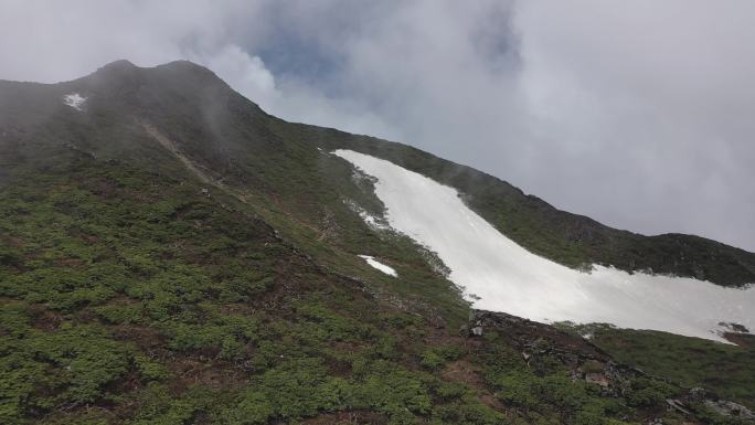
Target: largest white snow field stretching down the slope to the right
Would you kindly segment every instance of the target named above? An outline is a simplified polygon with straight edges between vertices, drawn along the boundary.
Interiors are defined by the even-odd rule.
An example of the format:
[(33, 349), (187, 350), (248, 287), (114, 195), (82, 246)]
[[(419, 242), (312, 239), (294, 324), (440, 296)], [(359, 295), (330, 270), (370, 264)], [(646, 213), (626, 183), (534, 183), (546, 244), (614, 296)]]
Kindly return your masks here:
[(603, 266), (589, 273), (571, 269), (517, 245), (469, 210), (453, 188), (363, 153), (333, 153), (378, 179), (375, 194), (385, 204), (389, 224), (436, 252), (475, 308), (722, 342), (720, 322), (755, 328), (755, 287), (725, 288)]

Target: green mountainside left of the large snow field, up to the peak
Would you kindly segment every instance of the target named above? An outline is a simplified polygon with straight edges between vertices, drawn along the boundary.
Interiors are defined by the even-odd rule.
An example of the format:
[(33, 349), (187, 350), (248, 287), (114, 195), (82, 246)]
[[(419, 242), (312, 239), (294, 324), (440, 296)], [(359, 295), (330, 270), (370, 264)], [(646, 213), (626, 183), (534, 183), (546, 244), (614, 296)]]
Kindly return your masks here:
[[(15, 93), (0, 96), (0, 422), (679, 419), (658, 410), (672, 385), (609, 395), (549, 350), (532, 370), (507, 336), (457, 337), (466, 305), (430, 254), (344, 204), (382, 208), (317, 151), (325, 130), (174, 73), (2, 86)], [(73, 89), (87, 114), (60, 106)]]

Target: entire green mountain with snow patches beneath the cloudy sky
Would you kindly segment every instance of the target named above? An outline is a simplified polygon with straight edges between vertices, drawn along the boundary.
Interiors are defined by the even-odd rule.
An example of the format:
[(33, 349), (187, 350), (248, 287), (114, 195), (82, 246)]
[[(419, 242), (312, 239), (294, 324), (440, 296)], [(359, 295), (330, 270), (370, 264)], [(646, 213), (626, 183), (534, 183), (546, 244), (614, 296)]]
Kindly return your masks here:
[[(415, 178), (424, 213), (391, 195)], [(437, 224), (458, 212), (511, 264), (429, 237), (464, 237)], [(680, 284), (661, 291), (691, 321), (729, 294), (752, 306), (755, 254), (613, 230), (401, 144), (284, 121), (189, 62), (0, 82), (0, 217), (2, 423), (744, 423), (724, 399), (755, 406), (752, 309), (723, 317), (737, 346), (506, 314), (559, 287), (470, 309), (495, 279), (515, 297), (552, 269), (566, 288)], [(481, 285), (478, 265), (522, 280)]]

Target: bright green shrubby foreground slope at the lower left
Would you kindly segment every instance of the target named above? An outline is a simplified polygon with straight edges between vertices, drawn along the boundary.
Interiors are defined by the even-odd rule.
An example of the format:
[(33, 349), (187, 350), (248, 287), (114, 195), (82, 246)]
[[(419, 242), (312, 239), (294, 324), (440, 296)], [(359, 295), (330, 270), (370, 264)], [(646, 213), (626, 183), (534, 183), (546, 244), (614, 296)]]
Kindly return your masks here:
[(679, 392), (608, 396), (549, 353), (532, 370), (506, 336), (375, 299), (190, 176), (60, 159), (0, 191), (4, 424), (620, 424)]

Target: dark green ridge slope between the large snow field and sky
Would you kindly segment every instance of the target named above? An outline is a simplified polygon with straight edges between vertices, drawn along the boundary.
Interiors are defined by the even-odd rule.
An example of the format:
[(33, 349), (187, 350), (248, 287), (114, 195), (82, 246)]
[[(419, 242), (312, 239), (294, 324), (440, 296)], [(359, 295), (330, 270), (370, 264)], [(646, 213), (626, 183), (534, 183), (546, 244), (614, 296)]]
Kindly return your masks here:
[(323, 130), (318, 140), (330, 150), (350, 149), (389, 160), (451, 187), (464, 202), (498, 231), (528, 251), (579, 268), (588, 264), (627, 272), (694, 277), (723, 286), (755, 278), (755, 255), (700, 236), (645, 236), (605, 226), (589, 217), (556, 210), (543, 200), (492, 176), (401, 144), (348, 138)]

